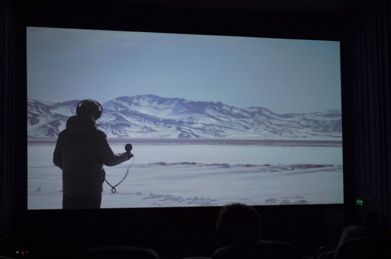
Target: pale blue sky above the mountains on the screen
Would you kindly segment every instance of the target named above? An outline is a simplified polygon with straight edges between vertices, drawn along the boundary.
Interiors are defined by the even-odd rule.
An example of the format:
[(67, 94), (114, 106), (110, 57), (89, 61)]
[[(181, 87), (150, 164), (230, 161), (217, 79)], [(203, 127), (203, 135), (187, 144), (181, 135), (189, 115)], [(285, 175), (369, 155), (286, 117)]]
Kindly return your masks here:
[(27, 96), (341, 109), (339, 42), (27, 27)]

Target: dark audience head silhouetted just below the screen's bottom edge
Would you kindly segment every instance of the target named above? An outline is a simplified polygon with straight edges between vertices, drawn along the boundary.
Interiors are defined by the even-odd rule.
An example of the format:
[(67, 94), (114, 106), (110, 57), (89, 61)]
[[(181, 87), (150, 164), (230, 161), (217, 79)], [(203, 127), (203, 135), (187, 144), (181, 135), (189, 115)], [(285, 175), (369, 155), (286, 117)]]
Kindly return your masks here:
[(217, 220), (218, 246), (234, 245), (259, 240), (260, 215), (244, 204), (224, 206)]

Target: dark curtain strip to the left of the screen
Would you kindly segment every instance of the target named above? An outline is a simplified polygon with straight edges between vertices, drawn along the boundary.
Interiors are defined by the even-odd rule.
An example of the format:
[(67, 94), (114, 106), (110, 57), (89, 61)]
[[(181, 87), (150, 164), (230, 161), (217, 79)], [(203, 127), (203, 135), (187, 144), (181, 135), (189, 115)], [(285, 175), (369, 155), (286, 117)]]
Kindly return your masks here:
[(15, 1), (0, 1), (0, 235), (26, 208), (26, 44)]

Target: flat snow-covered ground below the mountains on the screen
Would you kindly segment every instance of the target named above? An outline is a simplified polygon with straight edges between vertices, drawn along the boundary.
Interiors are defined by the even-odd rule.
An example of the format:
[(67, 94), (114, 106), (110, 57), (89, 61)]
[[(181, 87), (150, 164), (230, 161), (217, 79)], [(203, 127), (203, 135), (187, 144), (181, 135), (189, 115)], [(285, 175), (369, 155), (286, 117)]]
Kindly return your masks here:
[[(114, 152), (126, 143), (112, 142)], [(308, 144), (308, 143), (307, 143)], [(60, 209), (55, 142), (28, 143), (28, 209)], [(104, 183), (102, 208), (343, 203), (342, 146), (133, 145), (133, 166), (116, 193)], [(105, 167), (116, 184), (132, 160)]]

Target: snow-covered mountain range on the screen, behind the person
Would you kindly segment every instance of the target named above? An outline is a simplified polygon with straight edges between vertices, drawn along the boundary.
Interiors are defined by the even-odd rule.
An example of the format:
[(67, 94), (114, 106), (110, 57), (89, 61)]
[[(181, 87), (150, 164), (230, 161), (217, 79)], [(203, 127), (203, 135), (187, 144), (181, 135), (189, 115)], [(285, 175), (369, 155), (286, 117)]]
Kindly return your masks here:
[[(29, 137), (56, 137), (80, 100), (27, 100)], [(341, 111), (277, 114), (156, 95), (121, 96), (102, 104), (97, 121), (108, 137), (341, 140)]]

